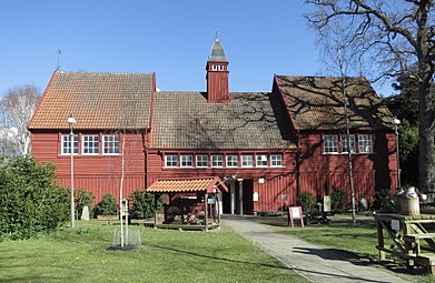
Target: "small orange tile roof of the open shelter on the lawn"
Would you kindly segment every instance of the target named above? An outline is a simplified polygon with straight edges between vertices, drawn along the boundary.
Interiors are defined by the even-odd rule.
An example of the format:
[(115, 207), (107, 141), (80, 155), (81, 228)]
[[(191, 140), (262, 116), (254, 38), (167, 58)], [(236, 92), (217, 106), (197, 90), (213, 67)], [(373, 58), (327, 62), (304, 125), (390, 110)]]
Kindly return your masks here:
[(157, 180), (148, 189), (150, 193), (182, 193), (182, 192), (208, 192), (212, 193), (214, 188), (228, 191), (225, 183), (218, 178), (201, 178), (201, 179), (175, 179), (175, 180)]

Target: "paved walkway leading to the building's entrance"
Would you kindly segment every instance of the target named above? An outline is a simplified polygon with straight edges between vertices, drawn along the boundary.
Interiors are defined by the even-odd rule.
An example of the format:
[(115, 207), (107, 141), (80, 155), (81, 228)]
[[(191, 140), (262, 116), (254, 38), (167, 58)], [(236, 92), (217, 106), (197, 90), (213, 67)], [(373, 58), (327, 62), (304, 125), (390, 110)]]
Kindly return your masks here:
[(344, 252), (275, 232), (249, 218), (225, 215), (223, 224), (230, 226), (312, 282), (408, 282), (380, 269), (366, 266), (367, 263)]

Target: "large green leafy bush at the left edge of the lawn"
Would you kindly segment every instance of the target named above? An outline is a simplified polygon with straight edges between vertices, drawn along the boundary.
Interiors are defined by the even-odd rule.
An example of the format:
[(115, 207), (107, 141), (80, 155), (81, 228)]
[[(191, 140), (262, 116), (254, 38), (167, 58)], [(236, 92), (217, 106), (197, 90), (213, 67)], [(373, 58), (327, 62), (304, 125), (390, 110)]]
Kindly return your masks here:
[(28, 239), (68, 220), (68, 190), (53, 178), (53, 164), (28, 156), (0, 165), (0, 240)]

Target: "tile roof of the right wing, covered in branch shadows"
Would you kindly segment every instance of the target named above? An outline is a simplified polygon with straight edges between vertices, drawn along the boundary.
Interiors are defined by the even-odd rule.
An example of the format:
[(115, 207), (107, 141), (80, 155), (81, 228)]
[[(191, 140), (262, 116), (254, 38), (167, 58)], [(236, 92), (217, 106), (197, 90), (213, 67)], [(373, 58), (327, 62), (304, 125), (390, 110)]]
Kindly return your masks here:
[[(346, 128), (342, 78), (275, 75), (275, 81), (300, 130)], [(392, 127), (392, 113), (365, 78), (346, 78), (350, 128)]]

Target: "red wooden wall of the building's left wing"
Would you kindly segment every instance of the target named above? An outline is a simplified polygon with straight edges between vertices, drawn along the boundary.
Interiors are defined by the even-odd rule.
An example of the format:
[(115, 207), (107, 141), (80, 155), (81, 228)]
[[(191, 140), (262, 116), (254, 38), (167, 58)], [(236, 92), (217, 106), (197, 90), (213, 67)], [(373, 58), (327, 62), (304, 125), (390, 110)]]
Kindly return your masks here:
[[(81, 134), (89, 132), (79, 132)], [(63, 133), (67, 134), (67, 133)], [(92, 132), (96, 134), (96, 132)], [(122, 138), (120, 138), (122, 141)], [(142, 134), (125, 134), (125, 198), (145, 189), (145, 152)], [(121, 149), (121, 143), (119, 145)], [(79, 137), (79, 152), (81, 139)], [(101, 150), (100, 150), (101, 152)], [(38, 161), (56, 164), (56, 176), (65, 188), (70, 186), (70, 155), (61, 154), (61, 133), (32, 133), (32, 155)], [(75, 188), (85, 188), (99, 202), (107, 193), (119, 201), (121, 155), (75, 155)]]

